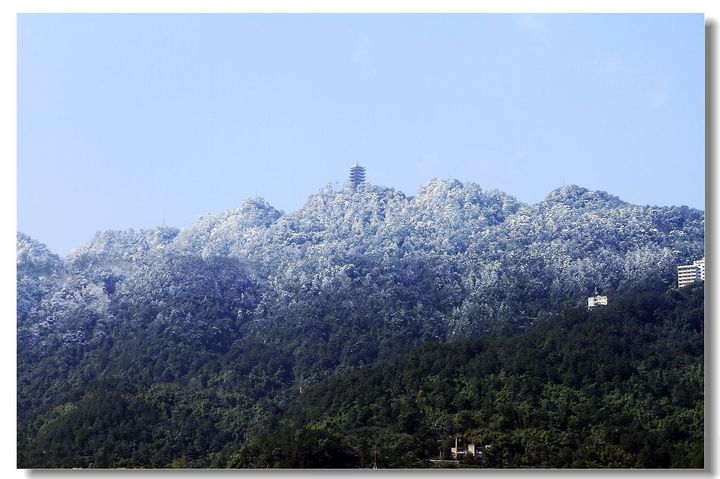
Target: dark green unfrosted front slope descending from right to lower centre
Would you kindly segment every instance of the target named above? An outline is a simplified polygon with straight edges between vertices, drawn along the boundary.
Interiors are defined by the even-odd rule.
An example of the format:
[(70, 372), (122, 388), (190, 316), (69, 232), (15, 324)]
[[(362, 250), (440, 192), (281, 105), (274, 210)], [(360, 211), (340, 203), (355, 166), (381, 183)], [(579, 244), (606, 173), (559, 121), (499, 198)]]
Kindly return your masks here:
[[(305, 391), (231, 467), (702, 468), (703, 288), (420, 347)], [(489, 446), (485, 448), (485, 446)], [(447, 463), (445, 463), (447, 465)]]

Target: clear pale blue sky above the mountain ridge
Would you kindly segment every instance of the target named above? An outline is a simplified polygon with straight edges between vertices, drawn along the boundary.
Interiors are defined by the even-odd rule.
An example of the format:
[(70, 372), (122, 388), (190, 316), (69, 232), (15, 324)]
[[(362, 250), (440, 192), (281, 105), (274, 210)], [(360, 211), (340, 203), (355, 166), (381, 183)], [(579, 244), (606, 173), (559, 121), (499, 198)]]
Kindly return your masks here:
[(704, 209), (702, 15), (20, 15), (18, 229), (187, 226), (347, 178)]

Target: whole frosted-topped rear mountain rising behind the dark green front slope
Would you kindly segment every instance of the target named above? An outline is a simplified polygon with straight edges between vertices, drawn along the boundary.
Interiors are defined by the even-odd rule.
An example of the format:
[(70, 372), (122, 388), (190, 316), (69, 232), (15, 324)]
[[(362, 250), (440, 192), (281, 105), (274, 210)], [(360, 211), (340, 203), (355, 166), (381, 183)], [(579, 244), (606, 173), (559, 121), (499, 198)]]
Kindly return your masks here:
[(703, 243), (687, 207), (577, 186), (527, 205), (441, 180), (414, 197), (328, 187), (288, 214), (248, 200), (182, 229), (101, 231), (65, 258), (19, 233), (18, 463), (246, 465), (248, 439), (319, 381), (425, 343), (535, 334), (596, 288), (665, 291)]

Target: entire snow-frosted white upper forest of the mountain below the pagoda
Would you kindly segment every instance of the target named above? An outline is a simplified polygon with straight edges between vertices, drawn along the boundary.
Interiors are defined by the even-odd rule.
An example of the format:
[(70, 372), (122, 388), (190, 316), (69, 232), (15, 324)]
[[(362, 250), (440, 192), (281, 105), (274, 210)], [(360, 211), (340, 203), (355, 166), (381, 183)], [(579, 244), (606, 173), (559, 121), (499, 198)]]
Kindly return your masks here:
[[(223, 315), (256, 320), (261, 334), (268, 324), (312, 321), (323, 308), (358, 314), (353, 305), (364, 302), (389, 324), (434, 318), (428, 334), (440, 337), (595, 288), (668, 283), (678, 264), (703, 254), (704, 212), (632, 205), (574, 185), (530, 205), (457, 180), (434, 179), (416, 196), (328, 185), (287, 214), (255, 198), (182, 229), (100, 231), (68, 256), (66, 273), (18, 276), (18, 314), (32, 321), (65, 311), (48, 314), (70, 321), (83, 317), (74, 312), (80, 303), (104, 314), (137, 300), (164, 318), (187, 318), (191, 305), (212, 300)], [(19, 234), (21, 263), (61, 264)], [(235, 296), (226, 301), (228, 291)], [(164, 311), (179, 298), (182, 308)]]

